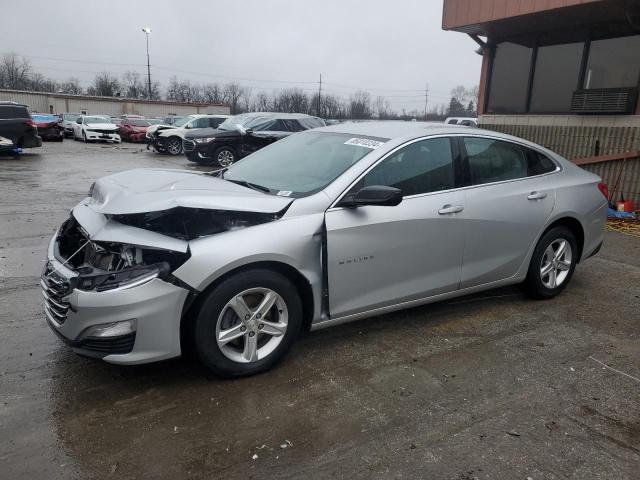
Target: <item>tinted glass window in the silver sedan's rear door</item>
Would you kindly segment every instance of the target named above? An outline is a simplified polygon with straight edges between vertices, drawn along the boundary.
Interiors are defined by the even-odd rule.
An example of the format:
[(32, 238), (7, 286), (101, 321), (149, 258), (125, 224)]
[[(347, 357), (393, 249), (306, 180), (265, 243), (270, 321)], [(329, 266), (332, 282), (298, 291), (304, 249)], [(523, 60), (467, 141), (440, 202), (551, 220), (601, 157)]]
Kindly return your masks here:
[(491, 138), (465, 137), (471, 185), (515, 180), (528, 176), (524, 150), (514, 143)]

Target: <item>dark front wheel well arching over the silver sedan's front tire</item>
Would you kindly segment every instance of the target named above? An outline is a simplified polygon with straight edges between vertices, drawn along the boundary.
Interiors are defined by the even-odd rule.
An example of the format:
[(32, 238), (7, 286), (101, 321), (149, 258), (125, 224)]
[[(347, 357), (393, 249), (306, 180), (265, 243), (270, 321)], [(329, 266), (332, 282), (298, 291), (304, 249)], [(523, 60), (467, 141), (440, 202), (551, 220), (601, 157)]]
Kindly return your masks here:
[(274, 272), (278, 272), (281, 275), (288, 278), (291, 283), (293, 283), (298, 290), (298, 294), (300, 295), (300, 300), (302, 301), (302, 328), (303, 330), (309, 330), (311, 328), (311, 321), (313, 320), (313, 290), (308, 280), (295, 268), (286, 263), (280, 262), (255, 262), (250, 263), (248, 265), (242, 265), (241, 267), (235, 268), (220, 278), (214, 280), (207, 288), (205, 288), (202, 292), (198, 293), (195, 298), (189, 303), (188, 307), (185, 309), (182, 315), (182, 323), (180, 326), (180, 341), (182, 344), (182, 350), (185, 352), (187, 349), (191, 349), (191, 334), (192, 328), (194, 325), (195, 316), (200, 308), (200, 304), (204, 298), (206, 298), (207, 294), (216, 288), (220, 283), (226, 280), (233, 275), (236, 275), (240, 272), (244, 272), (247, 270), (253, 269), (265, 269), (265, 270), (273, 270)]

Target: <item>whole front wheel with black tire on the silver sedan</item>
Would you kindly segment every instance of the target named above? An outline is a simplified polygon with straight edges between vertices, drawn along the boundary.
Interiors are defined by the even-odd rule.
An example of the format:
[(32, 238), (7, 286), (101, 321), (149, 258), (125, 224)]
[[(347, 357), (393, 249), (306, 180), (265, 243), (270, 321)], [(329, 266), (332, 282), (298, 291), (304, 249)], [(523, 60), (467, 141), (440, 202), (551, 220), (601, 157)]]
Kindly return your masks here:
[[(267, 294), (275, 303), (261, 317), (257, 306)], [(234, 303), (232, 308), (238, 298), (243, 303)], [(244, 319), (238, 311), (245, 312)], [(206, 294), (195, 318), (192, 341), (200, 362), (214, 374), (243, 377), (276, 365), (298, 337), (301, 325), (302, 302), (296, 287), (277, 272), (248, 270)], [(233, 334), (233, 340), (220, 339), (225, 331)]]

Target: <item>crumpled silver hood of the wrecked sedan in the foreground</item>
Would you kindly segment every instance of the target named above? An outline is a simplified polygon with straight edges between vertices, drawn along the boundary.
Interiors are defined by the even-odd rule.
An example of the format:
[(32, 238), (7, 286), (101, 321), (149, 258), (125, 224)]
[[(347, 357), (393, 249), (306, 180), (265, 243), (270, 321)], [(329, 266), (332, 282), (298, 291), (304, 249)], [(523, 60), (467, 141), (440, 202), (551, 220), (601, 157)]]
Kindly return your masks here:
[(277, 213), (291, 202), (202, 173), (141, 168), (97, 180), (86, 205), (109, 215), (175, 207)]

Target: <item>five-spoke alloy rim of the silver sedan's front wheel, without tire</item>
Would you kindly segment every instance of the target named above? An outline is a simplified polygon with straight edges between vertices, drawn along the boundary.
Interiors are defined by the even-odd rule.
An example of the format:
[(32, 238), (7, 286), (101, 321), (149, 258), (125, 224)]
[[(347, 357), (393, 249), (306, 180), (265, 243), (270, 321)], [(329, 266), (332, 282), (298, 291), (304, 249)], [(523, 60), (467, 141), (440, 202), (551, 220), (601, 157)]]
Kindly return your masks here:
[(238, 363), (268, 357), (282, 342), (289, 312), (284, 299), (269, 288), (251, 288), (231, 300), (216, 322), (216, 342), (222, 354)]

